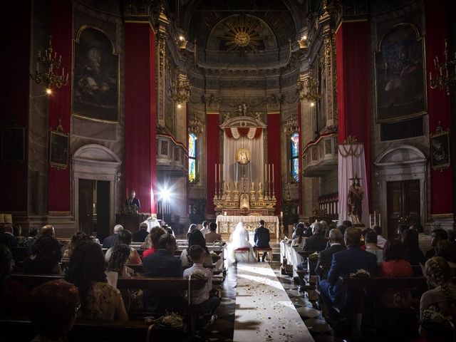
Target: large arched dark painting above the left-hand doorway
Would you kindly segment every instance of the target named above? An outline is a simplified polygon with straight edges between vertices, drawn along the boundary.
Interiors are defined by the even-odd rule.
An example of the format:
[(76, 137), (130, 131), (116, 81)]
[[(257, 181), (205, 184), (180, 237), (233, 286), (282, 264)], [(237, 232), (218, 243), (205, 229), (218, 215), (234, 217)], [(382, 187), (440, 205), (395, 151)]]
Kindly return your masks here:
[(73, 58), (73, 115), (118, 122), (119, 56), (100, 28), (82, 26)]

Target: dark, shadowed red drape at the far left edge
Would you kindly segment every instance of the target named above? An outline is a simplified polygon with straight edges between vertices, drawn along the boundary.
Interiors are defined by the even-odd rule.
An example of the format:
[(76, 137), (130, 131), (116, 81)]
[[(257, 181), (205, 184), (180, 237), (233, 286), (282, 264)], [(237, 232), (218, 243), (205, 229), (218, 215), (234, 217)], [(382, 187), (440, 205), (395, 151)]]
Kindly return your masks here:
[[(28, 92), (30, 90), (30, 82), (32, 82), (28, 75), (31, 1), (4, 1), (0, 18), (2, 32), (4, 32), (1, 46), (3, 51), (1, 55), (2, 66), (0, 68), (0, 103), (2, 112), (0, 126), (6, 128), (17, 125), (25, 128), (25, 160), (22, 162), (0, 163), (0, 187), (1, 192), (4, 194), (0, 197), (0, 212), (26, 212), (28, 192)], [(11, 51), (12, 53), (6, 53), (6, 51)]]

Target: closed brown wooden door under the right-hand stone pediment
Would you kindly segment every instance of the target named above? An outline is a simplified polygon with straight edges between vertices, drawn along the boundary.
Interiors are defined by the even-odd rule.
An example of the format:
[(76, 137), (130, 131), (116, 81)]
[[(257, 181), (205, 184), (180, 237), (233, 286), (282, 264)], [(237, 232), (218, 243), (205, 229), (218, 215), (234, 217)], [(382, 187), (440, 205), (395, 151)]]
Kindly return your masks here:
[(394, 237), (398, 224), (420, 223), (420, 181), (387, 182), (388, 238)]

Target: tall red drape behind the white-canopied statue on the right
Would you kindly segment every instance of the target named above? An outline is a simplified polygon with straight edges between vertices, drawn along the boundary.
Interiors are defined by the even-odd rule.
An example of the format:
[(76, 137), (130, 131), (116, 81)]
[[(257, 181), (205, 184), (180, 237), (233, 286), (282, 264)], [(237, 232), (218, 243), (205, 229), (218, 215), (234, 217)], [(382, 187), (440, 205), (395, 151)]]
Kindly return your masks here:
[(349, 135), (363, 142), (368, 204), (371, 185), (371, 77), (368, 21), (343, 22), (336, 32), (338, 142)]

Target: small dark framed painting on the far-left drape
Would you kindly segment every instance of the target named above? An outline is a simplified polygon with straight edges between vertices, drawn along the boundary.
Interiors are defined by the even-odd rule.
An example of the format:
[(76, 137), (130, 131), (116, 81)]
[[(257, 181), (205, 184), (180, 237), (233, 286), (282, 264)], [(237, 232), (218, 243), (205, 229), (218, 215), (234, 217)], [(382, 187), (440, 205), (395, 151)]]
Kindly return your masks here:
[(1, 130), (1, 160), (21, 162), (25, 160), (25, 128), (4, 127)]

